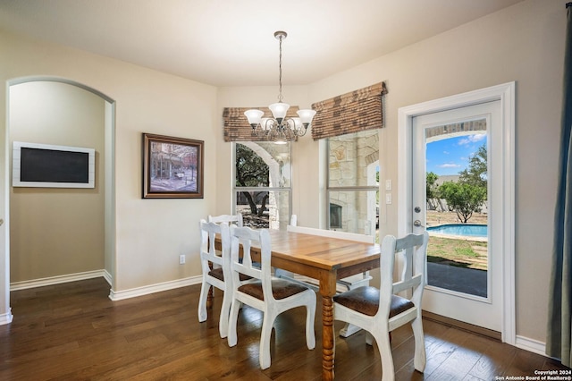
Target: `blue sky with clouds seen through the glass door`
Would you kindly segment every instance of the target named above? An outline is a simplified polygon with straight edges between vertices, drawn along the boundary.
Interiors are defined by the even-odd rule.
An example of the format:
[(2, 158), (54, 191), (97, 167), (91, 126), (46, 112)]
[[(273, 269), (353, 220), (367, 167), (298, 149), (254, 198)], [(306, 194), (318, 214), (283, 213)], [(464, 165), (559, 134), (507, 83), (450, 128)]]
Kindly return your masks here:
[(427, 172), (439, 176), (458, 174), (467, 168), (468, 158), (486, 142), (486, 134), (458, 136), (427, 143)]

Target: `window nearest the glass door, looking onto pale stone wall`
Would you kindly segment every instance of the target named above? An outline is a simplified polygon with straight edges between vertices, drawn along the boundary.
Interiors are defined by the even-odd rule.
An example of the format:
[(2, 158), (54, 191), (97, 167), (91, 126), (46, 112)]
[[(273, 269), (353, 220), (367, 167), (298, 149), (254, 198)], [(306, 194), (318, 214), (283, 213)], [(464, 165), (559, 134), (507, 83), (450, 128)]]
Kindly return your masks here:
[(379, 134), (359, 131), (327, 140), (328, 229), (374, 235), (379, 210)]

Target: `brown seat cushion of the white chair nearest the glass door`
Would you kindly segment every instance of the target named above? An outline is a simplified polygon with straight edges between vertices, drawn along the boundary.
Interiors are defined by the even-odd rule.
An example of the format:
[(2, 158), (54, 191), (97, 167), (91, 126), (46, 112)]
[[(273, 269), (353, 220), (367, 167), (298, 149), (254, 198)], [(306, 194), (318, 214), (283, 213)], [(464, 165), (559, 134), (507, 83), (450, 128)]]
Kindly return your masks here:
[[(364, 315), (373, 317), (379, 309), (379, 290), (372, 286), (357, 287), (354, 290), (335, 295), (333, 301)], [(415, 307), (413, 302), (398, 295), (391, 295), (390, 318)]]

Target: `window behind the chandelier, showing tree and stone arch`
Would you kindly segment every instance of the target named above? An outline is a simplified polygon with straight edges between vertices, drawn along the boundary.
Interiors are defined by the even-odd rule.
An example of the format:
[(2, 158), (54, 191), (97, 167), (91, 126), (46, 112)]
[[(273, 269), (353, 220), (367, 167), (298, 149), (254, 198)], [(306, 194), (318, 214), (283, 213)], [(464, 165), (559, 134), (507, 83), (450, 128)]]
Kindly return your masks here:
[(290, 142), (234, 145), (234, 208), (245, 226), (286, 229), (290, 221)]

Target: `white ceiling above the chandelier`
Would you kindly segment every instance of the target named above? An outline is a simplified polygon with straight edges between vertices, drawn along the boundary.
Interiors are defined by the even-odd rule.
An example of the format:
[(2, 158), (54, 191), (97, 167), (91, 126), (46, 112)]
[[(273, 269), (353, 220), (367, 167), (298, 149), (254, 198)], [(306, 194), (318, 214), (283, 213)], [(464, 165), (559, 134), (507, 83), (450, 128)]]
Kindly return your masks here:
[(0, 0), (0, 30), (214, 86), (305, 85), (522, 0)]

